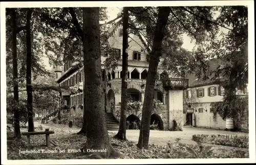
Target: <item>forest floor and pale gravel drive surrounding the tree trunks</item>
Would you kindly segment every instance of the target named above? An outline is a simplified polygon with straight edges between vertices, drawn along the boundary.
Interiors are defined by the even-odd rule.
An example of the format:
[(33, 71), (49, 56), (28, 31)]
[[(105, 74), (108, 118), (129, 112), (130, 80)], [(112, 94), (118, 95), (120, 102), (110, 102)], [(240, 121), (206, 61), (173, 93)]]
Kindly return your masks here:
[[(40, 126), (41, 125), (41, 126)], [(63, 150), (80, 149), (86, 142), (86, 137), (77, 135), (79, 128), (69, 128), (68, 125), (41, 124), (34, 122), (35, 127), (42, 130), (50, 128), (55, 133), (50, 135), (51, 145), (46, 147), (45, 135), (31, 136), (32, 149), (35, 150)], [(22, 129), (22, 132), (27, 131)], [(117, 131), (109, 132), (113, 137)], [(139, 130), (127, 130), (126, 137), (129, 142), (123, 142), (111, 138), (112, 146), (122, 154), (120, 158), (230, 158), (248, 157), (247, 148), (220, 146), (203, 144), (203, 148), (191, 138), (194, 134), (228, 134), (248, 136), (248, 133), (228, 132), (222, 130), (211, 130), (203, 128), (184, 127), (183, 131), (156, 131), (150, 132), (150, 149), (139, 150), (136, 147), (139, 138)], [(179, 143), (176, 139), (180, 138)], [(192, 150), (191, 150), (192, 149)], [(20, 151), (27, 150), (26, 137), (8, 146), (8, 159), (70, 159), (87, 158), (77, 153), (66, 154), (18, 154)], [(212, 150), (212, 151), (211, 151)]]

